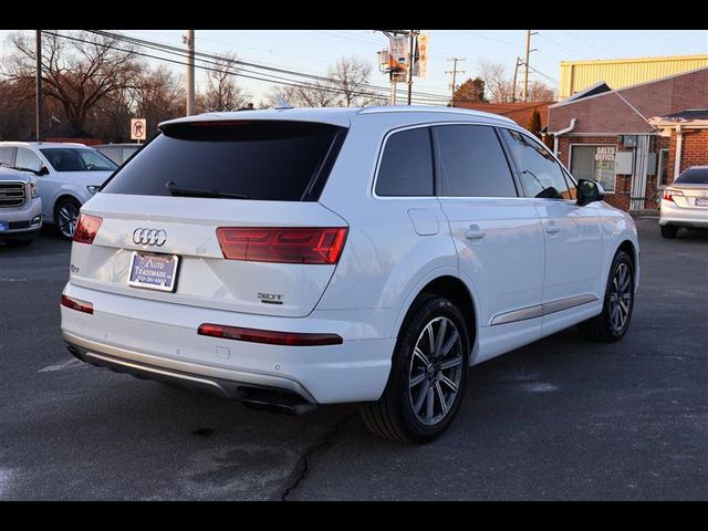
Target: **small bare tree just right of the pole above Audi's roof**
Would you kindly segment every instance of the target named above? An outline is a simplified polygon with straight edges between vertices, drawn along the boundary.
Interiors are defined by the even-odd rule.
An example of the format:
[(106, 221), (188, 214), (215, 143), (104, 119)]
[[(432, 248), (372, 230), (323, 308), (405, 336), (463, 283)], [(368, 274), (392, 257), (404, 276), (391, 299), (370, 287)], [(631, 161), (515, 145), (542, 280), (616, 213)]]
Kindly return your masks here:
[(236, 82), (235, 65), (237, 56), (223, 55), (208, 71), (205, 91), (197, 95), (197, 107), (202, 112), (237, 111), (251, 98)]

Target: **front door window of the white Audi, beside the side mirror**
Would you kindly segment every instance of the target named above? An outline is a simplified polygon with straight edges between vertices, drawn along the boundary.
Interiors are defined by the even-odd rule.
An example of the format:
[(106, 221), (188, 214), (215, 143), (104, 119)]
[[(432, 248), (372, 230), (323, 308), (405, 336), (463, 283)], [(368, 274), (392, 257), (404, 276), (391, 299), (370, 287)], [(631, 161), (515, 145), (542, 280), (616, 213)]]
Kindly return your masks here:
[(517, 131), (502, 129), (527, 197), (571, 199), (561, 166), (540, 143)]

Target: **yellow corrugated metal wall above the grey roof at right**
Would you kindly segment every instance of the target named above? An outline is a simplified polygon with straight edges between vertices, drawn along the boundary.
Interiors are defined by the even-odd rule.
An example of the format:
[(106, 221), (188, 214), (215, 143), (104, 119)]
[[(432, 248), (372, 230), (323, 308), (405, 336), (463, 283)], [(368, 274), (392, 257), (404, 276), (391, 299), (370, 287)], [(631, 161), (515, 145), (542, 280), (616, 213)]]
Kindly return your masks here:
[(559, 101), (604, 81), (611, 88), (623, 88), (708, 66), (706, 55), (562, 61)]

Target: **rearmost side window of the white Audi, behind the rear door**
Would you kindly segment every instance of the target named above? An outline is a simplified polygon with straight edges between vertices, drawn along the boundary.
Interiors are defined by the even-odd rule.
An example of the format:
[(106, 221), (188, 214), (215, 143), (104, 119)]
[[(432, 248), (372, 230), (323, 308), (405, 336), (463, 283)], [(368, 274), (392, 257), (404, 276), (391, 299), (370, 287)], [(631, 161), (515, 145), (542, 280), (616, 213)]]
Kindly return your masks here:
[(427, 127), (402, 131), (388, 137), (378, 168), (376, 195), (433, 195), (433, 154)]

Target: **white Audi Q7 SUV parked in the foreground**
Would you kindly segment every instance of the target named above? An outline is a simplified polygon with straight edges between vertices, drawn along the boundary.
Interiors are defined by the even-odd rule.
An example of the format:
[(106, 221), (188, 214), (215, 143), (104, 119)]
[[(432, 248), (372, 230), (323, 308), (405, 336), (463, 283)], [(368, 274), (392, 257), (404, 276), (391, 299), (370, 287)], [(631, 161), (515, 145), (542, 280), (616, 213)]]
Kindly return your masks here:
[(166, 122), (82, 208), (61, 302), (80, 360), (440, 435), (470, 365), (580, 324), (625, 335), (632, 218), (513, 122), (438, 107)]

